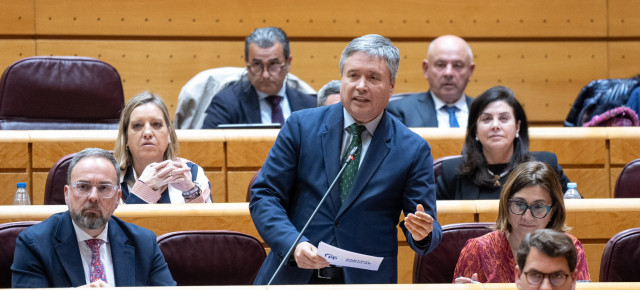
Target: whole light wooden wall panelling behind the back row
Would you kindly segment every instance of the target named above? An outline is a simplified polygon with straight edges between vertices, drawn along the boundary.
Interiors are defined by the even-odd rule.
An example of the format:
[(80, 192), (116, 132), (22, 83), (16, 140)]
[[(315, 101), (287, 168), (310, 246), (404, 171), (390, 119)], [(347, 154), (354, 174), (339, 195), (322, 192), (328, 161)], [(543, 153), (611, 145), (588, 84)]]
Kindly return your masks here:
[[(467, 93), (504, 85), (534, 124), (562, 124), (580, 89), (594, 79), (640, 73), (640, 17), (634, 0), (498, 1), (35, 1), (0, 0), (0, 69), (28, 56), (101, 59), (121, 74), (126, 99), (163, 96), (175, 115), (182, 86), (214, 67), (242, 67), (244, 37), (282, 27), (291, 38), (291, 72), (316, 90), (340, 77), (350, 39), (390, 37), (401, 52), (396, 92), (428, 88), (421, 71), (428, 42), (469, 40), (476, 71)], [(339, 8), (338, 8), (339, 7)], [(358, 15), (358, 17), (354, 17)]]

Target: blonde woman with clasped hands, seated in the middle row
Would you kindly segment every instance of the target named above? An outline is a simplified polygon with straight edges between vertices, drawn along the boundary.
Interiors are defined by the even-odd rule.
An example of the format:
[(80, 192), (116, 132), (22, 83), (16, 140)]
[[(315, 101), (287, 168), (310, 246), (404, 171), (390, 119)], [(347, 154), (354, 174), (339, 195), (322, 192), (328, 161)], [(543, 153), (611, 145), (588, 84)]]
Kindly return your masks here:
[(212, 202), (204, 170), (177, 157), (178, 137), (160, 97), (145, 91), (127, 102), (113, 151), (124, 203)]

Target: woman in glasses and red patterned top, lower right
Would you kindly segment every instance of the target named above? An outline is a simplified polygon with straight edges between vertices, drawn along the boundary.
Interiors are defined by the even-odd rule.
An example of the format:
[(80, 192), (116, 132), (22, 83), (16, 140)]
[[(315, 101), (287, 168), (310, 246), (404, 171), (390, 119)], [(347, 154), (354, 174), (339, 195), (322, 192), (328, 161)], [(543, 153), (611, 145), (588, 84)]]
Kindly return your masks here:
[[(520, 164), (502, 188), (495, 231), (470, 239), (460, 252), (454, 283), (513, 283), (517, 250), (527, 233), (538, 229), (566, 232), (566, 210), (555, 171), (544, 162)], [(577, 280), (590, 280), (582, 243), (577, 249)]]

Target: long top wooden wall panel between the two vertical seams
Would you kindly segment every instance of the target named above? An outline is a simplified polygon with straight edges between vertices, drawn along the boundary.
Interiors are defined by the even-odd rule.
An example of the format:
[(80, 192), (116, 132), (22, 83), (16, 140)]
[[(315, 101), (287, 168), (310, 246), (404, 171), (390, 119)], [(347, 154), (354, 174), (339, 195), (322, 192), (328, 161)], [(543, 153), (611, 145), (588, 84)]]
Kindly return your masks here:
[[(293, 37), (605, 36), (605, 0), (469, 0), (367, 3), (308, 1), (190, 1), (109, 3), (37, 0), (36, 29), (52, 35), (246, 36), (256, 27), (280, 26)], [(340, 7), (340, 9), (335, 9)], [(268, 15), (268, 16), (267, 16)], [(358, 17), (354, 17), (358, 15)]]

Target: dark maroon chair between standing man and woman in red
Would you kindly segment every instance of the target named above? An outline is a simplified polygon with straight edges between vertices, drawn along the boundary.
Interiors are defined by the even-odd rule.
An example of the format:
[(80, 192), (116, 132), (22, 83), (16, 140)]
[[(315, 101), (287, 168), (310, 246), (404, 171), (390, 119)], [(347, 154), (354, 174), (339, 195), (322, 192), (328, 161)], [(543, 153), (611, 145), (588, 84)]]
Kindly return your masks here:
[(413, 283), (452, 283), (460, 251), (468, 239), (491, 232), (495, 223), (461, 223), (442, 227), (442, 241), (426, 255), (413, 260)]

